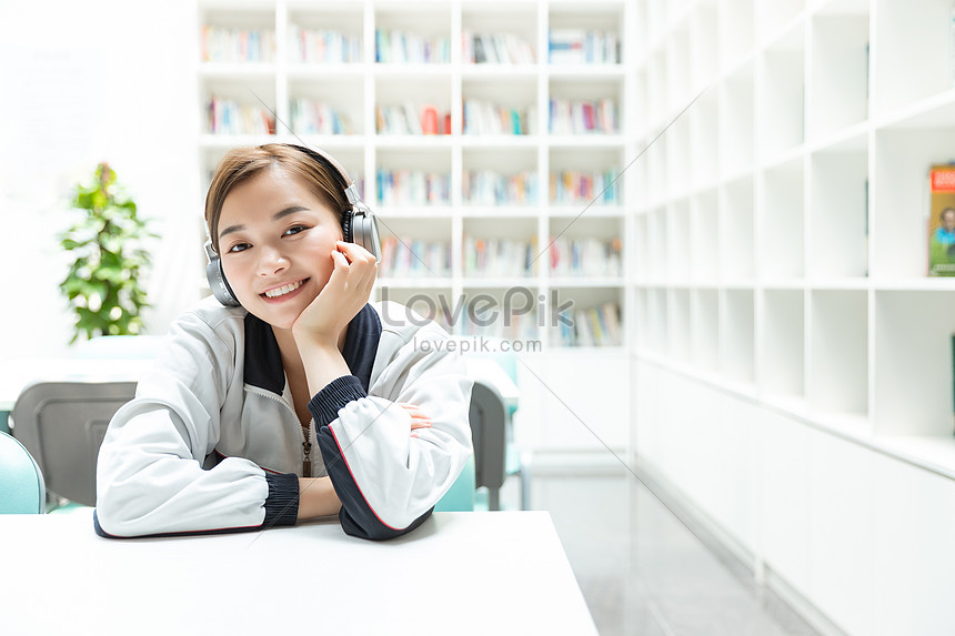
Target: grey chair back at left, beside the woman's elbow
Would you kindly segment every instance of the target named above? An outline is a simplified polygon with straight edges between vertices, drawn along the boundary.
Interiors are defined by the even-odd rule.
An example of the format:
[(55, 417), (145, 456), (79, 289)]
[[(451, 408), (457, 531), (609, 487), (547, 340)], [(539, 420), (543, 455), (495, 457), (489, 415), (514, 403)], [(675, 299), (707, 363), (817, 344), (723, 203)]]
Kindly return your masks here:
[(47, 488), (97, 503), (97, 456), (110, 420), (135, 395), (135, 382), (37, 382), (13, 406), (13, 434), (37, 460)]

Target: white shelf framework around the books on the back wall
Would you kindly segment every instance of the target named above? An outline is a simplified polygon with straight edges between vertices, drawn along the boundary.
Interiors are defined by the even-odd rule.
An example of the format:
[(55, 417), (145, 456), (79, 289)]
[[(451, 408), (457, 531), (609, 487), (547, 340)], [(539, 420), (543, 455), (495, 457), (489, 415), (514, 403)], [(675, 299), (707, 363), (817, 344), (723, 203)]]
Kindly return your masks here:
[[(200, 26), (254, 28), (275, 33), (275, 55), (270, 63), (202, 62), (198, 64), (198, 108), (207, 108), (207, 95), (214, 93), (241, 103), (264, 104), (278, 119), (275, 134), (220, 135), (208, 129), (198, 131), (199, 170), (208, 185), (215, 163), (234, 145), (265, 142), (304, 142), (323, 148), (342, 161), (352, 176), (363, 181), (364, 199), (379, 218), (383, 236), (444, 241), (451, 253), (446, 274), (410, 277), (391, 275), (380, 269), (375, 297), (410, 302), (422, 312), (441, 307), (451, 311), (462, 296), (484, 295), (503, 303), (511, 287), (526, 290), (534, 302), (532, 315), (525, 316), (530, 329), (500, 335), (540, 342), (543, 353), (536, 359), (539, 378), (547, 386), (569, 382), (591, 386), (589, 394), (611, 392), (624, 395), (630, 385), (626, 330), (614, 346), (566, 346), (555, 327), (555, 307), (573, 301), (573, 309), (589, 309), (615, 303), (622, 325), (631, 312), (632, 274), (626, 266), (631, 258), (626, 238), (633, 219), (631, 203), (635, 195), (635, 175), (624, 173), (616, 183), (619, 199), (614, 204), (589, 200), (554, 203), (551, 174), (562, 170), (621, 172), (636, 154), (633, 130), (634, 67), (637, 52), (625, 37), (635, 29), (634, 7), (624, 0), (601, 0), (582, 6), (563, 0), (396, 2), (394, 0), (343, 0), (314, 4), (299, 0), (249, 0), (222, 2), (199, 0)], [(361, 60), (351, 63), (302, 62), (292, 60), (290, 33), (293, 29), (328, 29), (361, 40)], [(379, 63), (375, 33), (379, 29), (400, 30), (424, 39), (450, 42), (450, 59), (440, 63)], [(601, 30), (616, 36), (621, 59), (617, 63), (551, 63), (551, 30)], [(523, 39), (534, 50), (533, 63), (472, 63), (463, 59), (463, 33), (509, 33)], [(352, 134), (292, 134), (291, 103), (306, 99), (324, 103), (353, 125)], [(550, 100), (612, 99), (616, 104), (619, 130), (614, 133), (552, 133)], [(505, 109), (531, 111), (535, 127), (529, 134), (465, 134), (466, 100), (492, 102)], [(434, 107), (439, 118), (450, 114), (450, 134), (412, 135), (379, 132), (376, 109)], [(204, 121), (204, 110), (203, 118)], [(376, 182), (380, 170), (419, 170), (445, 175), (449, 199), (438, 203), (389, 205), (381, 201)], [(527, 172), (534, 180), (536, 199), (522, 202), (472, 202), (464, 199), (462, 184), (469, 171), (493, 170), (501, 174)], [(204, 189), (203, 189), (204, 191)], [(599, 194), (599, 192), (594, 192)], [(551, 267), (546, 250), (552, 239), (600, 238), (622, 244), (623, 266), (606, 275), (557, 275)], [(198, 234), (197, 241), (201, 234)], [(527, 271), (506, 276), (487, 277), (465, 271), (465, 238), (507, 239), (533, 242), (539, 258)], [(535, 254), (535, 255), (536, 255)], [(512, 293), (513, 297), (513, 293)], [(522, 301), (523, 302), (523, 301)], [(520, 309), (520, 307), (519, 307)], [(688, 315), (688, 314), (687, 314)], [(443, 320), (442, 316), (436, 316)], [(474, 333), (468, 321), (452, 321), (449, 327), (459, 335)], [(445, 323), (446, 324), (446, 323)], [(522, 357), (525, 360), (525, 357)], [(595, 373), (607, 369), (610, 375)], [(535, 363), (536, 364), (536, 363)], [(520, 366), (520, 365), (519, 365)], [(529, 367), (530, 369), (530, 367)], [(536, 369), (536, 367), (535, 367)], [(530, 373), (530, 372), (529, 372)], [(593, 404), (576, 405), (574, 413), (555, 401), (537, 378), (523, 373), (522, 390), (544, 392), (536, 400), (549, 408), (549, 430), (523, 427), (522, 444), (545, 450), (603, 448), (601, 441), (562, 435), (556, 431), (582, 428), (577, 417), (590, 425), (601, 422), (603, 442), (620, 452), (629, 441), (627, 410), (614, 403), (600, 410)], [(550, 402), (549, 402), (550, 401)], [(527, 433), (530, 431), (530, 433)]]

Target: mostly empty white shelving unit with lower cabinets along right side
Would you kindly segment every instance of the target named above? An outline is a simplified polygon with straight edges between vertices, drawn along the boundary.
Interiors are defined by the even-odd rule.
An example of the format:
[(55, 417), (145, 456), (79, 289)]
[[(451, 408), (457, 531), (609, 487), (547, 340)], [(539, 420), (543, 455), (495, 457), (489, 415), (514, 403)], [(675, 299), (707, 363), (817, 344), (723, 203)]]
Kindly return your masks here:
[(631, 445), (824, 633), (953, 620), (951, 542), (916, 529), (955, 532), (955, 285), (925, 276), (928, 168), (955, 161), (952, 18), (637, 2), (629, 125), (637, 149), (665, 132), (635, 165)]

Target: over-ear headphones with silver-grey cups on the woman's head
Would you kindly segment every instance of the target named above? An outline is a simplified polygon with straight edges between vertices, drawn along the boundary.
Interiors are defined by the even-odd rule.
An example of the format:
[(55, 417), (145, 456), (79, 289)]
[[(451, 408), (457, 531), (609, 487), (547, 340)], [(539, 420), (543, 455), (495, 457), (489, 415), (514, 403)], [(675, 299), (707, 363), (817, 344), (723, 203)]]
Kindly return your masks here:
[[(345, 169), (332, 159), (331, 155), (322, 152), (321, 150), (313, 150), (311, 148), (305, 148), (304, 145), (295, 145), (292, 143), (283, 145), (294, 148), (308, 155), (322, 168), (326, 170), (330, 169), (332, 174), (339, 176), (339, 180), (343, 183), (344, 193), (345, 196), (348, 196), (349, 204), (352, 206), (351, 210), (345, 211), (342, 216), (342, 235), (344, 241), (346, 243), (356, 243), (361, 245), (374, 254), (375, 261), (381, 261), (381, 240), (378, 234), (378, 221), (375, 221), (371, 209), (369, 209), (364, 201), (361, 200), (358, 192), (358, 185), (355, 185), (355, 182), (352, 181), (351, 176), (349, 176), (349, 173), (345, 172)], [(209, 230), (210, 229), (207, 228), (207, 232), (209, 232)], [(225, 274), (222, 273), (222, 261), (212, 248), (211, 236), (208, 238), (203, 248), (205, 249), (205, 258), (209, 260), (209, 263), (205, 265), (205, 279), (209, 281), (209, 289), (212, 290), (212, 295), (214, 295), (215, 299), (225, 306), (238, 307), (239, 300), (235, 297), (235, 293), (232, 291), (232, 287), (229, 286), (229, 281), (225, 280)]]

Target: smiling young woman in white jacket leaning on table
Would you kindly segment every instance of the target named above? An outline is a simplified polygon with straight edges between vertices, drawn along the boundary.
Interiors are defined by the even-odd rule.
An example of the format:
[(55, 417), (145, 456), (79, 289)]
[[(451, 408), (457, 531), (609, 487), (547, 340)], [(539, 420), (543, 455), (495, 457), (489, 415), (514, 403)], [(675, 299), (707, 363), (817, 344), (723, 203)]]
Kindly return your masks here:
[(451, 487), (472, 452), (471, 381), (434, 346), (449, 337), (439, 325), (369, 304), (375, 258), (342, 240), (348, 185), (333, 160), (295, 145), (219, 163), (205, 222), (239, 306), (209, 297), (182, 314), (110, 422), (98, 533), (338, 514), (350, 535), (389, 538)]

